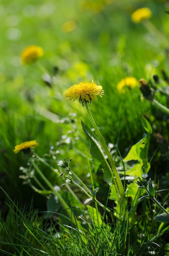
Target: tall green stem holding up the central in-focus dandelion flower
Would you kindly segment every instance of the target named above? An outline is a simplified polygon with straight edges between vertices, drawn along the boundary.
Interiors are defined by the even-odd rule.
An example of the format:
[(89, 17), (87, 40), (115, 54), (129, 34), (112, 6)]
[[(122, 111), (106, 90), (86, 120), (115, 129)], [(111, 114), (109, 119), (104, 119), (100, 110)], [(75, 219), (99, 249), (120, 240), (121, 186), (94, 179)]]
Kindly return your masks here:
[(123, 201), (124, 190), (123, 190), (123, 184), (121, 182), (119, 173), (118, 173), (118, 171), (116, 169), (116, 166), (114, 164), (114, 161), (112, 159), (110, 151), (108, 150), (108, 146), (106, 145), (105, 140), (103, 139), (103, 136), (101, 135), (101, 132), (99, 131), (99, 129), (98, 129), (98, 127), (97, 127), (97, 125), (96, 125), (96, 123), (94, 121), (94, 118), (92, 116), (92, 113), (90, 112), (90, 108), (89, 108), (87, 102), (85, 102), (85, 106), (86, 106), (86, 110), (87, 110), (87, 113), (88, 113), (88, 117), (89, 117), (89, 119), (90, 119), (90, 121), (92, 123), (92, 126), (93, 126), (95, 132), (97, 133), (97, 136), (99, 137), (99, 139), (101, 141), (101, 144), (102, 144), (102, 146), (103, 146), (103, 148), (105, 150), (106, 155), (108, 156), (108, 160), (110, 162), (110, 165), (111, 165), (113, 173), (114, 173), (114, 177), (116, 179), (117, 188), (119, 190), (118, 192), (119, 192), (119, 195), (121, 197), (120, 200)]

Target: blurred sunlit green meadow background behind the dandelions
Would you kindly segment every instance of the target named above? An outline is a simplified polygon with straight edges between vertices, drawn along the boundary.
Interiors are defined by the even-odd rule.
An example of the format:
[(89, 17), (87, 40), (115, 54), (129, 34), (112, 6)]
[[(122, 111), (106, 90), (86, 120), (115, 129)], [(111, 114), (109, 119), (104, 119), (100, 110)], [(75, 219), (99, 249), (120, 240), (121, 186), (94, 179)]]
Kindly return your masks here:
[[(131, 14), (141, 7), (151, 9), (152, 17), (134, 24)], [(168, 116), (143, 100), (138, 87), (121, 94), (116, 85), (126, 76), (152, 81), (154, 74), (162, 79), (161, 71), (168, 72), (167, 10), (169, 1), (160, 0), (1, 0), (0, 185), (12, 198), (24, 203), (34, 196), (34, 206), (45, 207), (44, 198), (19, 178), (20, 166), (27, 161), (13, 149), (27, 140), (39, 142), (37, 154), (54, 168), (57, 160), (72, 157), (75, 173), (86, 177), (81, 119), (90, 123), (79, 102), (66, 101), (64, 93), (71, 85), (92, 79), (105, 90), (90, 109), (106, 142), (116, 144), (119, 136), (119, 150), (125, 156), (143, 137), (140, 114), (145, 115), (154, 129), (149, 157), (159, 148), (153, 172), (163, 169), (166, 174)], [(42, 47), (44, 56), (22, 65), (20, 54), (29, 45)], [(160, 95), (159, 100), (167, 106), (166, 97)], [(53, 185), (62, 184), (48, 168), (41, 168)], [(3, 206), (2, 192), (0, 199)]]

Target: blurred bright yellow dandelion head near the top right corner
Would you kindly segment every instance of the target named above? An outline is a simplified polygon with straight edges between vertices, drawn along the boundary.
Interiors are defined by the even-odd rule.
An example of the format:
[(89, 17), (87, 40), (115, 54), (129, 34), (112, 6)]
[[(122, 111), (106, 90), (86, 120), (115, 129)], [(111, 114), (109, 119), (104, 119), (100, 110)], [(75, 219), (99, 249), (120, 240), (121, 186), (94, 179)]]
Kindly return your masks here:
[(142, 20), (147, 20), (151, 18), (151, 16), (152, 16), (152, 13), (149, 8), (140, 8), (134, 11), (134, 13), (132, 13), (131, 18), (134, 23), (139, 23)]

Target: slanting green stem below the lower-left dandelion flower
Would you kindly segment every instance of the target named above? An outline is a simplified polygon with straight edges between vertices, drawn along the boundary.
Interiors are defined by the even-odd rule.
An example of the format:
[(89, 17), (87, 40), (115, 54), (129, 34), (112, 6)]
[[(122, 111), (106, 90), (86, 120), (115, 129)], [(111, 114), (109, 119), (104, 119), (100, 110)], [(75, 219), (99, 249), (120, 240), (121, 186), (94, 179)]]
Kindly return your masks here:
[(40, 169), (37, 167), (37, 165), (35, 164), (35, 162), (33, 161), (33, 159), (30, 157), (30, 162), (33, 165), (33, 167), (35, 168), (35, 170), (37, 171), (37, 173), (40, 175), (40, 177), (44, 180), (44, 182), (48, 185), (48, 187), (50, 188), (50, 190), (58, 197), (59, 201), (61, 202), (62, 206), (66, 209), (66, 212), (68, 213), (68, 216), (70, 217), (70, 219), (74, 218), (73, 214), (71, 213), (71, 209), (68, 206), (68, 204), (66, 204), (65, 200), (61, 197), (61, 195), (54, 189), (54, 187), (52, 186), (52, 184), (48, 181), (48, 179), (46, 179), (46, 177), (44, 176), (44, 174), (40, 171)]

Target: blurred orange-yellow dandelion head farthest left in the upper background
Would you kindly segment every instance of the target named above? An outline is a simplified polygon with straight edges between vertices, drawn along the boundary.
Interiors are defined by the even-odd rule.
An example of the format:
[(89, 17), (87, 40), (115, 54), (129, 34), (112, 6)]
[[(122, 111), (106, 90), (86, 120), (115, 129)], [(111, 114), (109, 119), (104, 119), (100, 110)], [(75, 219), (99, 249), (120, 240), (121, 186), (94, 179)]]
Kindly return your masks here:
[(44, 51), (40, 46), (30, 45), (23, 50), (21, 60), (23, 64), (30, 64), (37, 61), (43, 55)]

